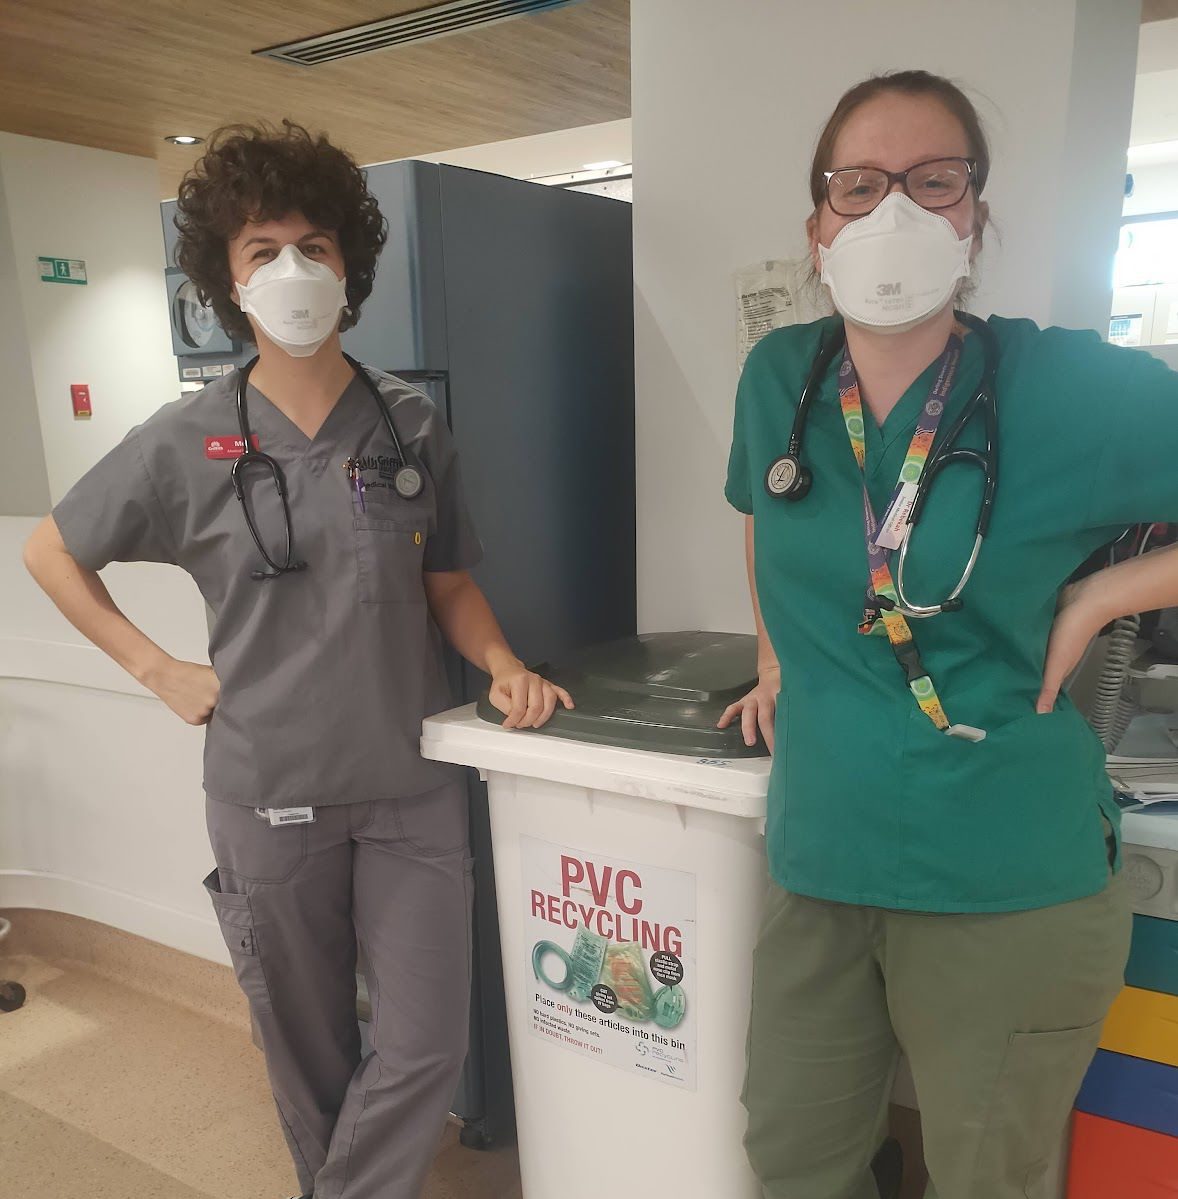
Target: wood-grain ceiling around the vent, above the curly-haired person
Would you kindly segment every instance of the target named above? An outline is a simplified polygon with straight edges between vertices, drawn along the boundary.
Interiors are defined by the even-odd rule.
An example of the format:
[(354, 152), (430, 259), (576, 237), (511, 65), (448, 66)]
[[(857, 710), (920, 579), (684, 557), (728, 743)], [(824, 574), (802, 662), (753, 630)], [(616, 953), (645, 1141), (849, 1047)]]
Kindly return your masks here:
[(629, 0), (318, 67), (251, 53), (420, 7), (2, 0), (0, 128), (155, 158), (167, 197), (199, 150), (163, 138), (230, 121), (289, 116), (379, 162), (630, 115)]

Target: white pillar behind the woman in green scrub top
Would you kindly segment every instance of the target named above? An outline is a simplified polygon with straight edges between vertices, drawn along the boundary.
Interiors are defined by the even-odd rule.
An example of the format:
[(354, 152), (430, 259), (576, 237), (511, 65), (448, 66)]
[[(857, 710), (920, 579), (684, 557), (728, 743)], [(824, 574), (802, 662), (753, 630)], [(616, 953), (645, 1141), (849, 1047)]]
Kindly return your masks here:
[[(804, 253), (810, 156), (839, 96), (898, 67), (966, 84), (988, 122), (986, 198), (1000, 230), (987, 239), (976, 309), (1106, 331), (1137, 16), (1135, 2), (1101, 0), (637, 0), (644, 629), (751, 628), (740, 519), (722, 498), (737, 382), (732, 272)], [(1077, 211), (1064, 213), (1069, 204)]]

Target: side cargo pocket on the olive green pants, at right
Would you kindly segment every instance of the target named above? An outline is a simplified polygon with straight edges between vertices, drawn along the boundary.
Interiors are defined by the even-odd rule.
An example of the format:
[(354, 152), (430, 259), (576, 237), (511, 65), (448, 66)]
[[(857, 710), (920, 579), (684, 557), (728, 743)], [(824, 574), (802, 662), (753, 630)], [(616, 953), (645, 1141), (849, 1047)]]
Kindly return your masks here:
[(986, 1140), (1002, 1145), (1004, 1153), (981, 1152), (984, 1161), (1006, 1157), (1011, 1182), (1022, 1187), (1011, 1194), (1048, 1199), (1051, 1163), (1042, 1157), (1044, 1146), (1054, 1146), (1068, 1123), (1102, 1028), (1101, 1019), (1078, 1029), (1011, 1035), (986, 1128)]

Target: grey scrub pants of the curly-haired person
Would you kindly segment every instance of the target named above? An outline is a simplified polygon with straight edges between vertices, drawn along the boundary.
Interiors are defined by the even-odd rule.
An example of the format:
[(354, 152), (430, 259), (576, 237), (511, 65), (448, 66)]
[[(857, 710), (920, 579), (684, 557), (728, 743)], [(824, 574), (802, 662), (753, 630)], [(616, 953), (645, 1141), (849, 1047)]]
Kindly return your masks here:
[[(299, 1185), (315, 1199), (417, 1199), (469, 1032), (465, 788), (280, 827), (212, 800), (206, 814), (217, 869), (205, 886)], [(357, 944), (373, 1012), (362, 1060)]]

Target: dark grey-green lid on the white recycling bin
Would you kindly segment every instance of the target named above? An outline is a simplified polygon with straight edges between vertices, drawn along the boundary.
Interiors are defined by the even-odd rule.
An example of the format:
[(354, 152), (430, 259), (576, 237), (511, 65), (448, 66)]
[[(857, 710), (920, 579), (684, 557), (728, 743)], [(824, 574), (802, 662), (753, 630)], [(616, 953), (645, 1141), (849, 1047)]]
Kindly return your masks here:
[[(757, 638), (743, 633), (647, 633), (543, 662), (537, 674), (571, 693), (576, 709), (558, 707), (533, 731), (570, 741), (649, 749), (692, 758), (761, 758), (745, 745), (740, 722), (717, 729), (725, 709), (757, 683)], [(479, 715), (503, 715), (486, 693)]]

